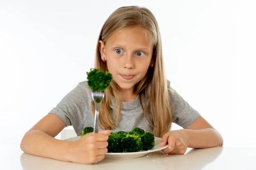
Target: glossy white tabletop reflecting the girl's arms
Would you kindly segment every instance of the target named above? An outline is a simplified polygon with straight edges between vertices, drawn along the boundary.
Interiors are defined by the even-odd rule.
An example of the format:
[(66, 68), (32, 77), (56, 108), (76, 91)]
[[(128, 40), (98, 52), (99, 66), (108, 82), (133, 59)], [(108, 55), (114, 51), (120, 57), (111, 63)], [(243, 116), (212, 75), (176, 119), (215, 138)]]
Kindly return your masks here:
[(256, 147), (188, 148), (184, 155), (162, 151), (133, 159), (104, 159), (76, 164), (23, 153), (18, 143), (0, 143), (0, 170), (256, 170)]

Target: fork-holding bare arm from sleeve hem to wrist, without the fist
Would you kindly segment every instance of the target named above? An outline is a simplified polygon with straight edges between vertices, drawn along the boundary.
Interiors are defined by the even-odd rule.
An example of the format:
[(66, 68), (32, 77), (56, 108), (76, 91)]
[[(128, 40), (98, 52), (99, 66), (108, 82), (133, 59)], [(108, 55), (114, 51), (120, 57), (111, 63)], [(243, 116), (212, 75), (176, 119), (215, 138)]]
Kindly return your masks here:
[(20, 148), (26, 153), (61, 161), (67, 161), (67, 148), (70, 142), (54, 137), (66, 127), (54, 114), (47, 114), (25, 133)]

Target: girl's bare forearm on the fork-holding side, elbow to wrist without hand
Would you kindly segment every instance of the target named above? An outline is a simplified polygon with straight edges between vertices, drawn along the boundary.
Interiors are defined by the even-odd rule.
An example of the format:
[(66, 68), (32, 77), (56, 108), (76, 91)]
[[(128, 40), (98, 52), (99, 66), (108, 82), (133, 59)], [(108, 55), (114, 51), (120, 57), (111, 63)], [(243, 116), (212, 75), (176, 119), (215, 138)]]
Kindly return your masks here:
[(55, 139), (41, 130), (31, 130), (24, 135), (20, 148), (32, 155), (68, 161), (65, 156), (69, 144), (70, 142)]

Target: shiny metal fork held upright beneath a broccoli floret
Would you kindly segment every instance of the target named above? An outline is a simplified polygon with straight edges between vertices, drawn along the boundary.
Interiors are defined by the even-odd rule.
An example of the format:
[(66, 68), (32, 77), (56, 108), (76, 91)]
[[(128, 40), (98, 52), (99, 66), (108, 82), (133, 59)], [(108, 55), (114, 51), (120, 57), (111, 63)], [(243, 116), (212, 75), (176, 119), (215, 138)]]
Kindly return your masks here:
[(95, 103), (95, 118), (94, 118), (94, 130), (93, 133), (98, 133), (98, 127), (99, 127), (99, 105), (102, 101), (103, 97), (105, 96), (105, 91), (93, 91), (92, 92), (93, 101)]

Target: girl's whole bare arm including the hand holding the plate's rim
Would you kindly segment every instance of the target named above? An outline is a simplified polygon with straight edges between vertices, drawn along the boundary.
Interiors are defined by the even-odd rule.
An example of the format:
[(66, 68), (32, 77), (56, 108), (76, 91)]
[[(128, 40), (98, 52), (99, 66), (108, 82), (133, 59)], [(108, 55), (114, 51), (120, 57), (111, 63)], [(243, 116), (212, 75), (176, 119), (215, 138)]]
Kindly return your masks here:
[(170, 131), (163, 135), (160, 146), (168, 143), (163, 150), (168, 154), (184, 154), (187, 147), (206, 148), (223, 146), (223, 138), (202, 116), (182, 130)]

